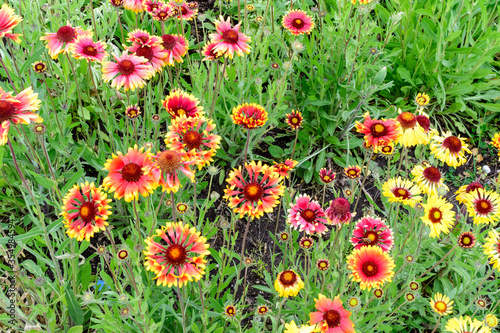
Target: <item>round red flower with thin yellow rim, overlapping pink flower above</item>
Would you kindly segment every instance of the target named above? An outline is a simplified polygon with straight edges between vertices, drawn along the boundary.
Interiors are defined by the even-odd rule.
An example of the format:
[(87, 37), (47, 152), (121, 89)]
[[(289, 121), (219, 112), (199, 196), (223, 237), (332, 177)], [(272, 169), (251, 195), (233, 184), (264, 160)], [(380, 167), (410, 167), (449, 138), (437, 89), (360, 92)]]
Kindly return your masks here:
[(363, 246), (354, 249), (347, 257), (347, 264), (352, 274), (350, 277), (360, 282), (362, 290), (379, 288), (385, 282), (392, 281), (393, 268), (396, 266), (392, 258), (378, 246)]

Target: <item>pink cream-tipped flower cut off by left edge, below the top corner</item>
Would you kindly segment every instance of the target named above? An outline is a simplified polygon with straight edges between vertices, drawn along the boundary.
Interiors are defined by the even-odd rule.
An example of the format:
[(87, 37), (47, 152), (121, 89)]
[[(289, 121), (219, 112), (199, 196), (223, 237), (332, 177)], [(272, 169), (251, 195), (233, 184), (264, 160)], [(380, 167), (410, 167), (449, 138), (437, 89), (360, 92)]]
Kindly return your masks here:
[(30, 112), (40, 108), (41, 101), (37, 97), (38, 94), (34, 94), (31, 88), (12, 96), (0, 87), (0, 146), (7, 143), (11, 122), (14, 125), (43, 122), (39, 115)]

